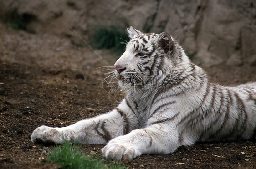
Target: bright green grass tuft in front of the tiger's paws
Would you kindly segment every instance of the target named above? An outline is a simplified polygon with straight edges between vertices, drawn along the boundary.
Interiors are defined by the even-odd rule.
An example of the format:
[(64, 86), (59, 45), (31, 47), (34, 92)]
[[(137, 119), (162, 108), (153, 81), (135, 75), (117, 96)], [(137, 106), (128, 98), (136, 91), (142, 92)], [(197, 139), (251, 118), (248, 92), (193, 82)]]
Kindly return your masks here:
[(50, 151), (48, 162), (55, 161), (62, 169), (125, 169), (121, 164), (101, 158), (100, 155), (87, 155), (79, 151), (81, 146), (65, 142)]

